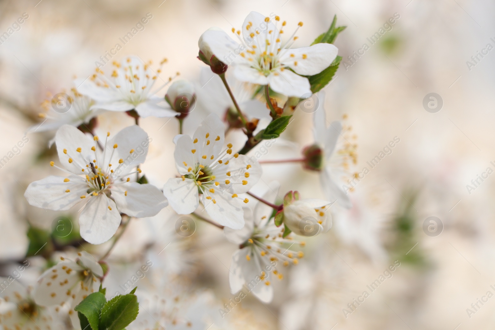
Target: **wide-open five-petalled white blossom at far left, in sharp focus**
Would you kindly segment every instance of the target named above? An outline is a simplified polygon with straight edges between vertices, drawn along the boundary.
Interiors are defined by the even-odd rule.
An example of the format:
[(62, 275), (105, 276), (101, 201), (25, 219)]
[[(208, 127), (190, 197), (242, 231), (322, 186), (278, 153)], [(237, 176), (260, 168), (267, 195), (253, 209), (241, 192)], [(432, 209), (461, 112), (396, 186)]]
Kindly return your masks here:
[(157, 214), (167, 201), (156, 187), (131, 182), (136, 166), (148, 153), (148, 134), (139, 126), (120, 131), (113, 139), (108, 132), (99, 149), (98, 137), (91, 139), (77, 128), (62, 126), (55, 135), (58, 158), (66, 176), (49, 176), (29, 185), (24, 197), (44, 209), (66, 211), (85, 202), (79, 216), (81, 236), (100, 244), (110, 239), (121, 221), (120, 213), (131, 217)]

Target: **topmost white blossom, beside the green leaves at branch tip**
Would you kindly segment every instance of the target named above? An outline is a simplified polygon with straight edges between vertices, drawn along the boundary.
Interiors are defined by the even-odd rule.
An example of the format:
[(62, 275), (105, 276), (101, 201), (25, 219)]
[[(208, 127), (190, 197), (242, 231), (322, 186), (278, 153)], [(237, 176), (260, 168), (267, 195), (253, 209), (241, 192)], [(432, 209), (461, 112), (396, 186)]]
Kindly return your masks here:
[(297, 40), (296, 32), (282, 42), (286, 22), (280, 17), (266, 17), (251, 11), (242, 30), (235, 30), (237, 41), (224, 31), (212, 28), (204, 32), (198, 42), (205, 56), (215, 55), (225, 64), (233, 64), (241, 81), (270, 85), (275, 92), (300, 97), (311, 93), (306, 77), (320, 73), (337, 57), (338, 49), (331, 44), (290, 48)]

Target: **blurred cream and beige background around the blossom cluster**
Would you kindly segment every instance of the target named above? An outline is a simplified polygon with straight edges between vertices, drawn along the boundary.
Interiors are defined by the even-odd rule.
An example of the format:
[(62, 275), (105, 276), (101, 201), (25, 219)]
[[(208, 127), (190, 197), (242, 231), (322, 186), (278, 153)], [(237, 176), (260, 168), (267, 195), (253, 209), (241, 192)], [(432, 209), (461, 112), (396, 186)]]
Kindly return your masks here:
[[(343, 60), (324, 89), (324, 107), (329, 120), (347, 115), (345, 125), (357, 135), (354, 170), (370, 170), (350, 194), (354, 207), (335, 210), (332, 230), (306, 240), (305, 257), (275, 283), (270, 304), (248, 295), (222, 319), (218, 309), (234, 297), (228, 268), (237, 246), (198, 221), (194, 235), (178, 236), (174, 226), (179, 216), (170, 208), (131, 223), (109, 259), (115, 270), (107, 279), (109, 290), (151, 259), (157, 266), (138, 287), (153, 292), (166, 285), (163, 294), (170, 299), (184, 295), (177, 308), (192, 315), (200, 307), (188, 299), (207, 295), (201, 308), (211, 309), (212, 321), (204, 329), (210, 324), (211, 329), (492, 329), (495, 298), (482, 298), (488, 291), (495, 294), (495, 210), (490, 202), (495, 175), (488, 171), (495, 170), (490, 147), (495, 3), (490, 1), (0, 1), (0, 36), (13, 31), (0, 39), (0, 158), (13, 154), (0, 168), (0, 275), (29, 258), (35, 266), (20, 279), (29, 285), (45, 267), (44, 257), (59, 253), (59, 245), (74, 251), (84, 245), (96, 254), (107, 248), (84, 244), (77, 228), (70, 236), (50, 238), (58, 217), (77, 226), (77, 209), (45, 211), (23, 197), (31, 182), (56, 174), (48, 166), (56, 158), (55, 148), (48, 148), (53, 132), (25, 135), (39, 122), (41, 103), (70, 89), (74, 77), (92, 74), (100, 56), (116, 44), (122, 48), (111, 61), (130, 54), (155, 63), (166, 57), (165, 75), (180, 72), (200, 89), (205, 65), (196, 58), (199, 36), (212, 26), (239, 29), (252, 10), (279, 15), (290, 33), (304, 22), (294, 47), (309, 45), (334, 15), (338, 25), (347, 26), (335, 42)], [(24, 22), (13, 25), (19, 17)], [(119, 38), (143, 17), (148, 23), (123, 45)], [(371, 43), (377, 32), (379, 40)], [(204, 116), (199, 108), (193, 112), (185, 121), (186, 133)], [(262, 160), (297, 157), (312, 143), (313, 115), (296, 111), (294, 118), (296, 124)], [(133, 124), (122, 113), (105, 113), (98, 121), (101, 132)], [(171, 155), (178, 125), (167, 121), (141, 120), (153, 139), (143, 170), (159, 188), (176, 174)], [(13, 149), (23, 137), (28, 142)], [(236, 139), (242, 135), (234, 132)], [(371, 168), (367, 162), (397, 139), (392, 152), (385, 151)], [(277, 180), (282, 193), (297, 189), (304, 197), (322, 198), (317, 173), (297, 164), (267, 164), (263, 170), (255, 187), (259, 191), (266, 188), (263, 183)], [(369, 290), (367, 285), (391, 265), (399, 266)], [(177, 289), (178, 294), (178, 287), (187, 289)], [(358, 305), (354, 299), (363, 291), (369, 297)]]

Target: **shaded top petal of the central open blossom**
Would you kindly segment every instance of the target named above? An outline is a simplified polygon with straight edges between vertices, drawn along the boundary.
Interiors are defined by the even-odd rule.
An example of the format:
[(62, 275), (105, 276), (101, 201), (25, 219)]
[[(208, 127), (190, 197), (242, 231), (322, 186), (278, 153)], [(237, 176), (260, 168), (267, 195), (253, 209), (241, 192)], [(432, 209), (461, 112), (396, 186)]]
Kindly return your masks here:
[(194, 141), (198, 139), (196, 143), (193, 141), (193, 147), (197, 150), (200, 164), (207, 166), (220, 154), (225, 144), (224, 134), (225, 125), (216, 114), (211, 113), (202, 121), (193, 136)]

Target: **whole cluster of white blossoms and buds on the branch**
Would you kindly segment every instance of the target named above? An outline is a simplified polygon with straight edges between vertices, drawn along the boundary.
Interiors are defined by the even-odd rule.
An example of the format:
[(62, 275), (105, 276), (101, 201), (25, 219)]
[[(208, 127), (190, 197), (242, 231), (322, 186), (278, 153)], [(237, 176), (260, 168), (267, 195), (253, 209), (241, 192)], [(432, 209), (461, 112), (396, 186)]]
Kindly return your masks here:
[[(272, 277), (282, 280), (283, 268), (298, 264), (304, 255), (296, 248), (304, 246), (300, 238), (330, 230), (329, 210), (334, 203), (351, 206), (347, 191), (338, 182), (356, 161), (353, 143), (346, 140), (338, 147), (342, 125), (334, 122), (327, 128), (325, 110), (320, 106), (314, 113), (315, 142), (303, 149), (299, 161), (320, 173), (325, 200), (303, 199), (297, 191), (277, 199), (278, 185), (270, 185), (261, 197), (250, 191), (261, 180), (262, 168), (246, 154), (260, 141), (278, 138), (297, 103), (317, 92), (312, 77), (323, 75), (337, 57), (337, 47), (329, 42), (292, 48), (302, 23), (282, 41), (286, 25), (279, 16), (251, 12), (241, 30), (232, 29), (237, 41), (216, 28), (204, 32), (198, 58), (216, 75), (212, 86), (217, 87), (209, 87), (208, 93), (196, 94), (194, 85), (185, 80), (163, 80), (161, 67), (152, 69), (151, 62), (134, 56), (114, 62), (107, 74), (98, 68), (87, 79), (76, 80), (77, 88), (71, 90), (66, 104), (69, 110), (57, 111), (53, 102), (45, 103), (46, 111), (40, 117), (48, 122), (32, 128), (56, 130), (53, 141), (59, 164), (53, 160), (49, 165), (64, 175), (31, 183), (25, 192), (29, 204), (54, 211), (79, 204), (80, 235), (92, 244), (110, 240), (119, 227), (123, 232), (132, 218), (155, 216), (167, 206), (177, 214), (203, 220), (196, 212), (204, 210), (210, 218), (206, 220), (223, 228), (225, 237), (239, 245), (230, 267), (231, 292), (252, 286), (259, 300), (270, 302)], [(158, 96), (169, 83), (166, 94)], [(323, 93), (317, 95), (323, 103)], [(286, 104), (279, 106), (284, 101)], [(190, 137), (182, 134), (182, 124), (196, 102), (206, 104), (213, 113)], [(98, 136), (94, 133), (97, 116), (105, 111), (126, 112), (136, 125)], [(176, 117), (180, 124), (179, 135), (173, 139), (177, 175), (162, 187), (149, 184), (141, 170), (153, 140), (139, 126), (139, 118), (146, 117)], [(229, 141), (227, 133), (233, 129), (245, 133), (244, 146)], [(254, 208), (249, 207), (251, 197), (257, 200)], [(119, 237), (115, 236), (113, 243)], [(33, 322), (50, 308), (56, 312), (68, 309), (76, 317), (74, 308), (104, 281), (107, 270), (102, 259), (97, 261), (85, 251), (74, 260), (61, 258), (33, 289), (24, 289), (29, 293), (15, 291), (2, 298), (6, 303), (16, 300), (20, 311)], [(159, 301), (155, 305), (155, 317), (169, 322), (169, 315), (160, 312), (168, 305)], [(9, 308), (6, 313), (0, 311), (5, 330), (35, 329), (26, 327), (21, 313)], [(143, 329), (155, 329), (152, 323), (143, 319), (140, 324)]]

